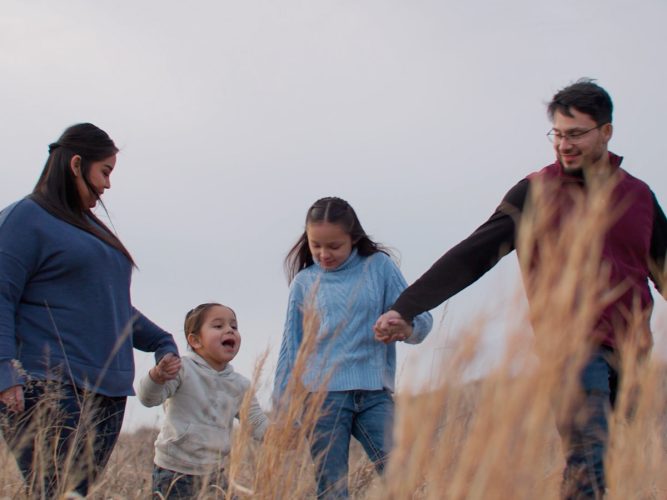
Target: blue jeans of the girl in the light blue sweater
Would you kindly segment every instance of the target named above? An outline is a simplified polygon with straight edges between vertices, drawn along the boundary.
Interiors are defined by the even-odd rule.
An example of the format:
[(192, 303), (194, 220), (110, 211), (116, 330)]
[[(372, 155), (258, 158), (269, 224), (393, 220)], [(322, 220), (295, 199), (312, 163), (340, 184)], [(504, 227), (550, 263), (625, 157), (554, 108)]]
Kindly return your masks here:
[(381, 474), (393, 445), (393, 424), (394, 399), (387, 390), (327, 393), (310, 443), (317, 497), (348, 497), (350, 436), (361, 443)]

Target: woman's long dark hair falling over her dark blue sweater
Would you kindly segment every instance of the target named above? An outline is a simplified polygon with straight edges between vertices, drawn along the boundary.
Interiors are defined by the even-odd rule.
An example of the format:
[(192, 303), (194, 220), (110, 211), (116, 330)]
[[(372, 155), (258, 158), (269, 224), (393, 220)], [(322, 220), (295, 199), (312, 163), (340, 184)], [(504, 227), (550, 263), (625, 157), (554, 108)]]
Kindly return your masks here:
[[(49, 145), (49, 158), (30, 198), (44, 210), (79, 229), (108, 243), (134, 266), (134, 260), (118, 237), (88, 207), (84, 207), (76, 187), (70, 164), (72, 157), (81, 157), (81, 173), (91, 194), (99, 200), (90, 183), (90, 166), (118, 153), (107, 133), (92, 123), (69, 127), (60, 138)], [(101, 203), (101, 200), (99, 200)], [(104, 206), (104, 205), (102, 205)]]

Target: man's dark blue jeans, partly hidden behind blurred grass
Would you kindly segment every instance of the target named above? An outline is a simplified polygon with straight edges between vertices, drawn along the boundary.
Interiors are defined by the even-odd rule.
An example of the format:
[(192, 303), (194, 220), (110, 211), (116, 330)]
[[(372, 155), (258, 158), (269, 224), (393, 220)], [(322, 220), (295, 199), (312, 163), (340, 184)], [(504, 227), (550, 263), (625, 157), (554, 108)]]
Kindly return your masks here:
[(616, 352), (601, 347), (584, 365), (582, 397), (558, 422), (565, 449), (562, 498), (599, 499), (605, 491), (604, 458), (609, 440), (608, 417), (616, 401), (619, 374)]

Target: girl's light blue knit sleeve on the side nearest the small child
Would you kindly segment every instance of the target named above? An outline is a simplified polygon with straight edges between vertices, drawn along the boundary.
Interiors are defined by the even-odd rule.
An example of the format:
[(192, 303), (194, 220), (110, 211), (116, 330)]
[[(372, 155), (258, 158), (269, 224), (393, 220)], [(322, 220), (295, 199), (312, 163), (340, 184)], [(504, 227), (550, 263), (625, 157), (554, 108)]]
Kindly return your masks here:
[(283, 329), (283, 338), (280, 344), (278, 365), (273, 384), (273, 407), (280, 408), (283, 401), (287, 384), (289, 383), (296, 362), (296, 356), (303, 339), (303, 293), (302, 288), (295, 279), (290, 287), (289, 300), (287, 302), (287, 316)]

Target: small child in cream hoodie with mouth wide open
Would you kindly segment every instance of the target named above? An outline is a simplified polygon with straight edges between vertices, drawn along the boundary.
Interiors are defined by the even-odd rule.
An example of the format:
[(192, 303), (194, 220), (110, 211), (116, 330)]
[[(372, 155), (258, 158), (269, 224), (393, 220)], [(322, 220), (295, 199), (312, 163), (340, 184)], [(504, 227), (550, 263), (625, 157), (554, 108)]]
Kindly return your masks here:
[[(146, 406), (165, 403), (166, 418), (155, 441), (153, 491), (161, 498), (193, 498), (209, 484), (226, 481), (222, 459), (231, 449), (234, 417), (239, 418), (248, 379), (229, 362), (241, 346), (236, 314), (217, 303), (201, 304), (185, 316), (185, 336), (194, 351), (173, 372), (173, 360), (150, 369), (137, 391)], [(267, 418), (253, 396), (249, 408), (253, 437), (262, 439)]]

